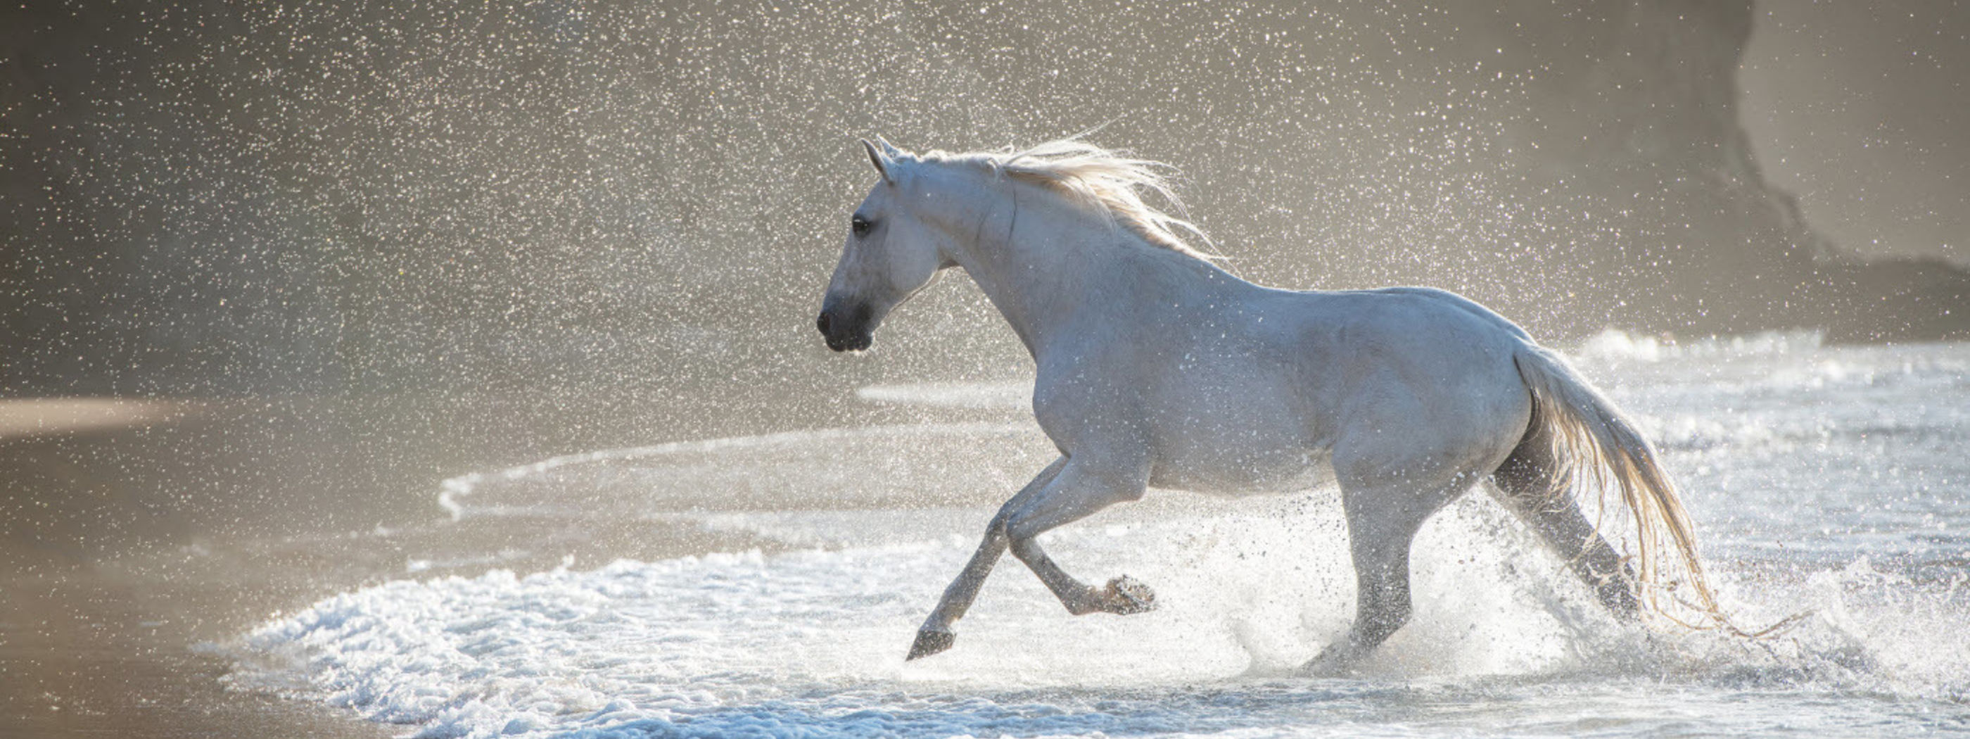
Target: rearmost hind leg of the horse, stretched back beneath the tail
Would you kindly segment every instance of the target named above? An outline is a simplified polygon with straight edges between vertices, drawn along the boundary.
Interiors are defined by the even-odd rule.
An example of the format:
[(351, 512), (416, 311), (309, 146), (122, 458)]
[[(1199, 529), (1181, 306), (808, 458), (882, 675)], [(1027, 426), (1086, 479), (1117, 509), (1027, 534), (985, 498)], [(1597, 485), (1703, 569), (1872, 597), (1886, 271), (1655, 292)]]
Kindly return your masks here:
[(1623, 621), (1641, 617), (1635, 597), (1635, 570), (1608, 546), (1600, 530), (1580, 512), (1570, 491), (1554, 489), (1556, 465), (1550, 445), (1527, 436), (1505, 463), (1491, 473), (1499, 501), (1539, 532), (1609, 613)]

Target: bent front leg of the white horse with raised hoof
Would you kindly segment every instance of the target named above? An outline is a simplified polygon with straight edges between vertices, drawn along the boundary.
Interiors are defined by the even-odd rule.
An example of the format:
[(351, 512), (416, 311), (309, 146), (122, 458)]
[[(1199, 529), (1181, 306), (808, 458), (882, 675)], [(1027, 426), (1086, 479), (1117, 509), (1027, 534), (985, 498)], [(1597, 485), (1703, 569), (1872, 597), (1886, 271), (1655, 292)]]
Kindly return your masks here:
[(1068, 575), (1040, 548), (1036, 536), (1056, 526), (1064, 526), (1107, 508), (1115, 503), (1139, 501), (1149, 487), (1147, 465), (1099, 465), (1070, 461), (1052, 485), (1034, 493), (1020, 506), (1007, 504), (1005, 534), (1011, 540), (1013, 556), (1024, 562), (1034, 575), (1054, 591), (1068, 613), (1143, 613), (1156, 607), (1156, 593), (1141, 581), (1121, 575), (1109, 579), (1105, 587), (1089, 587)]

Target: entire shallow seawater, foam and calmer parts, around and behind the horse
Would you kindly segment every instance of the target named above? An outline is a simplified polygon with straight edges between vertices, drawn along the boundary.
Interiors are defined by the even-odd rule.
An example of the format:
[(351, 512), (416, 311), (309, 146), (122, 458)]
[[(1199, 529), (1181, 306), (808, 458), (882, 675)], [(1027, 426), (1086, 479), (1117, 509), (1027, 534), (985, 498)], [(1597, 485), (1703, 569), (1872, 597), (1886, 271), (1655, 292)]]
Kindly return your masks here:
[[(1050, 459), (1017, 384), (926, 384), (861, 398), (1003, 418), (461, 475), (429, 534), (516, 536), (207, 648), (236, 690), (426, 737), (1970, 733), (1970, 345), (1604, 335), (1576, 359), (1661, 443), (1726, 607), (1795, 627), (1619, 625), (1470, 495), (1418, 542), (1414, 621), (1353, 678), (1294, 678), (1351, 609), (1334, 493), (1154, 491), (1046, 540), (1158, 611), (1068, 617), (1007, 560), (957, 646), (904, 662), (995, 503)], [(583, 562), (650, 536), (693, 554)]]

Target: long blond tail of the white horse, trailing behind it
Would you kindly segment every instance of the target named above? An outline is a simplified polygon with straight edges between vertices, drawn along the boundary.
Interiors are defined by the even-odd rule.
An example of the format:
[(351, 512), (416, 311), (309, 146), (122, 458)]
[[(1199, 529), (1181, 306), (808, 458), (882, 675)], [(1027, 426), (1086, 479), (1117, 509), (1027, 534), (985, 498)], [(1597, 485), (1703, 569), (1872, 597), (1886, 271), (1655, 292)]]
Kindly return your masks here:
[[(1527, 437), (1543, 436), (1550, 443), (1546, 493), (1570, 495), (1580, 483), (1590, 483), (1604, 497), (1609, 489), (1619, 491), (1621, 503), (1635, 516), (1637, 599), (1676, 625), (1738, 633), (1704, 579), (1690, 514), (1649, 441), (1560, 355), (1525, 345), (1513, 355), (1513, 365), (1533, 394)], [(1671, 577), (1676, 570), (1680, 577)], [(1684, 589), (1686, 595), (1680, 593)], [(1694, 609), (1698, 621), (1678, 617), (1671, 605), (1680, 605), (1680, 613)]]

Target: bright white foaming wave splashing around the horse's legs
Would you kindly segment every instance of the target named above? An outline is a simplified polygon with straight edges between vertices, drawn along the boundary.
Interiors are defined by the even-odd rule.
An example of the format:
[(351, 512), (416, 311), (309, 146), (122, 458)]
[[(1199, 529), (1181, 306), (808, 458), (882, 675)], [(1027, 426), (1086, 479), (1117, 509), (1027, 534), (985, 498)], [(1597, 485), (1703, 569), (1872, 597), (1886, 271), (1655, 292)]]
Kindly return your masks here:
[[(1726, 577), (1724, 595), (1751, 619), (1814, 615), (1765, 642), (1625, 627), (1481, 497), (1424, 530), (1416, 619), (1357, 680), (1290, 678), (1347, 625), (1340, 514), (1322, 497), (1225, 506), (1178, 497), (1048, 534), (1078, 571), (1154, 585), (1158, 611), (1074, 619), (1009, 562), (957, 648), (922, 662), (902, 650), (971, 538), (877, 544), (871, 530), (894, 528), (896, 512), (772, 512), (705, 526), (823, 548), (392, 581), (252, 631), (234, 646), (252, 656), (229, 680), (420, 737), (1194, 735), (1294, 723), (1304, 731), (1267, 733), (1346, 735), (1338, 704), (1412, 707), (1432, 692), (1572, 713), (1544, 696), (1621, 702), (1667, 684), (1763, 690), (1781, 704), (1828, 692), (1950, 704), (1970, 682), (1960, 583), (1923, 587), (1866, 562)], [(924, 516), (983, 520), (989, 508)]]

